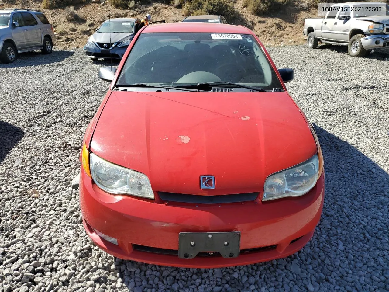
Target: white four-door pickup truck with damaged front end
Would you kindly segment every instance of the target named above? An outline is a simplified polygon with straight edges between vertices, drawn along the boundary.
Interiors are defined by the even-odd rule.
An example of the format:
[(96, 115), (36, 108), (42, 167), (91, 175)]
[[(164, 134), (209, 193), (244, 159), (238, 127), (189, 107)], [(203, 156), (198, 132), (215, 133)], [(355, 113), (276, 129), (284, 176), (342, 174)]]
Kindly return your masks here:
[[(366, 5), (383, 5), (382, 15), (365, 16)], [(371, 8), (370, 8), (371, 10)], [(389, 49), (389, 5), (382, 2), (347, 2), (331, 5), (325, 18), (307, 18), (304, 23), (308, 47), (319, 42), (348, 46), (349, 55), (362, 57), (375, 49)]]

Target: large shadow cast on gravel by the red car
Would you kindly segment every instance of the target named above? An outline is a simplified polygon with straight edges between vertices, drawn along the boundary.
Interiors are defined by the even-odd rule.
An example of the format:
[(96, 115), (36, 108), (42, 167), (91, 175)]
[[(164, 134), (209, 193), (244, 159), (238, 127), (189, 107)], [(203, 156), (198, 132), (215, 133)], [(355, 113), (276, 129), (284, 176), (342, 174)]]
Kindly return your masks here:
[[(115, 269), (123, 283), (130, 291), (148, 291), (157, 283), (166, 291), (184, 291), (187, 286), (182, 288), (180, 283), (204, 284), (205, 273), (213, 275), (214, 284), (206, 282), (199, 291), (368, 291), (368, 287), (385, 291), (389, 287), (384, 277), (389, 175), (348, 142), (316, 125), (315, 129), (324, 155), (326, 195), (321, 221), (302, 250), (286, 259), (213, 272), (116, 259)], [(280, 286), (274, 290), (275, 274)], [(196, 278), (191, 280), (192, 275)], [(215, 286), (223, 288), (212, 290)]]

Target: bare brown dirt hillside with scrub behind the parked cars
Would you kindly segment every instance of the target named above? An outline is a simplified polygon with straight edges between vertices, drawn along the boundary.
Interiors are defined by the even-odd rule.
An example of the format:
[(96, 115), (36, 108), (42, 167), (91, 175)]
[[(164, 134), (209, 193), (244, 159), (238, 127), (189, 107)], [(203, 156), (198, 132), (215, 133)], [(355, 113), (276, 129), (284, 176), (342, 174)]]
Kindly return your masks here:
[[(115, 9), (112, 4), (109, 5), (108, 1), (105, 5), (102, 5), (99, 0), (94, 1), (98, 2), (87, 2), (74, 6), (74, 12), (62, 8), (43, 9), (42, 1), (35, 0), (12, 0), (4, 2), (1, 8), (29, 8), (44, 12), (57, 33), (56, 47), (60, 48), (83, 47), (88, 37), (104, 20), (109, 19), (109, 16), (111, 18), (142, 18), (150, 13), (153, 21), (165, 19), (166, 22), (182, 21), (185, 18), (181, 9), (167, 4), (152, 3), (137, 5), (135, 9), (119, 10)], [(300, 11), (292, 3), (266, 16), (259, 17), (244, 7), (244, 0), (237, 0), (234, 5), (237, 17), (229, 23), (247, 26), (266, 46), (303, 43), (305, 41), (302, 34), (304, 19), (315, 17), (317, 14), (315, 9)], [(69, 13), (75, 13), (76, 17), (69, 16)]]

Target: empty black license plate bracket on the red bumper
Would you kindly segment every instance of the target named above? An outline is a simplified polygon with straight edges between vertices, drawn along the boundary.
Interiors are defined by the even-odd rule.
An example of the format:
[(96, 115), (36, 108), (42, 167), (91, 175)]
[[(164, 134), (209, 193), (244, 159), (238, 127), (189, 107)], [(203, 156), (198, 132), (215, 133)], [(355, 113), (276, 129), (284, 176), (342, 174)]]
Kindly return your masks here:
[(240, 252), (240, 231), (180, 232), (178, 256), (193, 259), (200, 252), (219, 252), (224, 258), (234, 258)]

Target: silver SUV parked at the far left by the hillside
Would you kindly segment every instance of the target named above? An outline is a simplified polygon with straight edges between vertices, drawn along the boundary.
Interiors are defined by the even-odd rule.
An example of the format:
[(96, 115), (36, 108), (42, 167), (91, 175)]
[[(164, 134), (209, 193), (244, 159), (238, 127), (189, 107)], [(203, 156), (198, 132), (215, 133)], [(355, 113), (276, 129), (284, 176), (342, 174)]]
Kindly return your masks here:
[(12, 63), (18, 53), (53, 51), (56, 38), (46, 16), (32, 9), (0, 9), (0, 60)]

